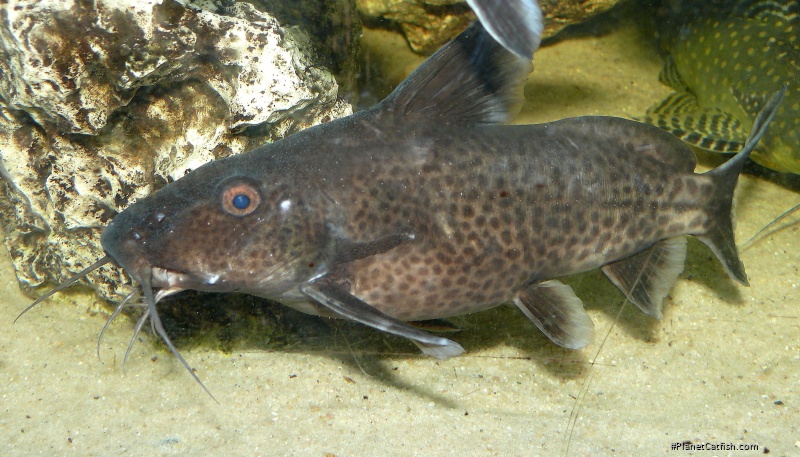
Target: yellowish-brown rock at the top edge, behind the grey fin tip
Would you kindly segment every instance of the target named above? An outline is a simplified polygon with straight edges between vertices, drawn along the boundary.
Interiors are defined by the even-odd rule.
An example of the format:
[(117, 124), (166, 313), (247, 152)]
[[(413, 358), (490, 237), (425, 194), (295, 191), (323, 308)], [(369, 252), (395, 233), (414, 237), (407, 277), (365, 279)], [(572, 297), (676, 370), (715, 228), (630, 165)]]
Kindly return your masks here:
[[(609, 10), (621, 0), (539, 0), (545, 16), (544, 37)], [(466, 0), (357, 0), (372, 24), (400, 28), (414, 52), (431, 54), (467, 28), (475, 14)]]

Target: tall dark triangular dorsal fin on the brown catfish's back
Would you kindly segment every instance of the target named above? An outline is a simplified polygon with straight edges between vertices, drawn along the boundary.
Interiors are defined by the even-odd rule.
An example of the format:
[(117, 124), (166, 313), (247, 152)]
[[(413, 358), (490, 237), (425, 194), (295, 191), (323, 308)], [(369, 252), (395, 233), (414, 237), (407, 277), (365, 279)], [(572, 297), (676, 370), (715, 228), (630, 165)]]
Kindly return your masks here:
[(530, 70), (528, 59), (507, 51), (476, 22), (423, 62), (375, 109), (406, 121), (503, 123)]

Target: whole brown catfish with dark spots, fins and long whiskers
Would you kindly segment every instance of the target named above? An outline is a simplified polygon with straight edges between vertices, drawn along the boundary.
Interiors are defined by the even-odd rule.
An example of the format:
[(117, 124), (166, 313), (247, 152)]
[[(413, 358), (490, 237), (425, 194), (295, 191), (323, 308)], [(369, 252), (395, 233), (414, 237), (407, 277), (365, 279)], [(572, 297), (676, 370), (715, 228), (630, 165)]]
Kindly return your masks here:
[(745, 149), (700, 175), (683, 142), (635, 121), (499, 125), (529, 67), (476, 23), (374, 108), (209, 163), (131, 205), (90, 269), (114, 262), (141, 284), (136, 330), (149, 318), (187, 369), (156, 307), (186, 289), (350, 319), (445, 359), (464, 349), (407, 321), (513, 302), (555, 343), (586, 346), (593, 323), (557, 278), (594, 268), (660, 317), (685, 235), (747, 284), (733, 189), (782, 92)]

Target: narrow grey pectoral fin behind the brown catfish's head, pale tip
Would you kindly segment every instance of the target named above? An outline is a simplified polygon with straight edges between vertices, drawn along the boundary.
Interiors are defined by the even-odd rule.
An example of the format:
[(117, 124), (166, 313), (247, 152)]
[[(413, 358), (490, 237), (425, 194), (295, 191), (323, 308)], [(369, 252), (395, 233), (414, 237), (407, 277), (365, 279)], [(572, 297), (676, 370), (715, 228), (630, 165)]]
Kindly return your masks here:
[(464, 348), (455, 341), (433, 336), (388, 316), (351, 295), (344, 286), (329, 279), (321, 278), (312, 281), (303, 285), (300, 290), (336, 315), (369, 325), (386, 333), (406, 337), (419, 346), (423, 353), (439, 360), (464, 353)]

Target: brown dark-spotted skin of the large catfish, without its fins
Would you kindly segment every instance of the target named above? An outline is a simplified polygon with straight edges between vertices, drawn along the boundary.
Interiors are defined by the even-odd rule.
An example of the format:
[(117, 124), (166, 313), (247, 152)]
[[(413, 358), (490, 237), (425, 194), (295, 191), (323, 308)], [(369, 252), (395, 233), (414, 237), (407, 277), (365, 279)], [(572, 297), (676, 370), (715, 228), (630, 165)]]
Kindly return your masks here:
[[(486, 309), (532, 282), (703, 230), (711, 180), (692, 174), (691, 151), (654, 127), (615, 118), (467, 131), (423, 124), (387, 143), (369, 123), (334, 121), (209, 164), (112, 227), (144, 221), (138, 255), (222, 275), (210, 290), (261, 295), (261, 278), (276, 266), (303, 278), (329, 271), (402, 320)], [(683, 154), (684, 166), (637, 150), (647, 147)], [(242, 178), (259, 183), (265, 203), (245, 218), (224, 213), (218, 198), (226, 180)], [(145, 216), (156, 213), (166, 215), (161, 223)], [(332, 238), (369, 243), (396, 234), (414, 239), (334, 264)]]

